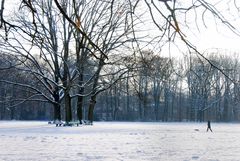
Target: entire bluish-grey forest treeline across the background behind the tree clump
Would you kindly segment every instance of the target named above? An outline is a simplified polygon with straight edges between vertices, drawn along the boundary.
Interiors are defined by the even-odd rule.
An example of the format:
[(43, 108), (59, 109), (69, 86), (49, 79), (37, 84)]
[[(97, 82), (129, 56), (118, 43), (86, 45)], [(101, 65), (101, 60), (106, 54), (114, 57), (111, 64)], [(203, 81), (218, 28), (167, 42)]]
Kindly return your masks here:
[[(212, 53), (206, 60), (196, 56), (176, 59), (161, 57), (144, 51), (135, 60), (121, 58), (114, 67), (134, 66), (121, 77), (120, 74), (103, 74), (101, 83), (111, 84), (97, 99), (94, 120), (121, 121), (238, 121), (240, 119), (239, 81), (240, 62), (236, 54)], [(7, 60), (7, 61), (6, 61)], [(120, 60), (120, 58), (119, 58)], [(133, 61), (134, 60), (134, 61)], [(1, 57), (1, 67), (17, 62), (10, 56)], [(7, 64), (6, 64), (7, 63)], [(44, 64), (42, 64), (44, 67)], [(44, 91), (39, 80), (27, 70), (10, 68), (1, 70), (1, 119), (53, 120), (54, 105), (34, 90)], [(89, 67), (84, 79), (92, 75)], [(108, 78), (109, 77), (109, 78)], [(111, 82), (111, 77), (118, 81)], [(4, 80), (4, 81), (3, 81)], [(115, 80), (115, 79), (114, 79)], [(9, 82), (15, 83), (9, 83)], [(75, 82), (77, 83), (77, 81)], [(23, 85), (23, 86), (22, 86)], [(29, 87), (25, 87), (29, 86)], [(89, 89), (85, 89), (89, 90)], [(70, 91), (71, 97), (78, 92)], [(89, 96), (82, 99), (82, 119), (89, 119)], [(78, 98), (72, 97), (73, 120), (77, 117)], [(61, 102), (61, 118), (65, 118), (64, 100)]]

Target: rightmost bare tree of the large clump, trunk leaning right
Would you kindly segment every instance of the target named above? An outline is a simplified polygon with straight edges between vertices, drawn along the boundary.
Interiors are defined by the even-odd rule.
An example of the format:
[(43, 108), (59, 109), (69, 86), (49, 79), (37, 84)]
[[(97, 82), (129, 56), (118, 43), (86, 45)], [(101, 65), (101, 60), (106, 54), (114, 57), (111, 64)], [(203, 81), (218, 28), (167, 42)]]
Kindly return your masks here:
[[(103, 71), (104, 66), (113, 65), (113, 62), (116, 60), (112, 58), (114, 58), (115, 53), (119, 53), (117, 49), (131, 41), (131, 39), (127, 38), (127, 36), (131, 34), (131, 23), (128, 24), (125, 19), (128, 10), (125, 8), (123, 2), (91, 1), (90, 3), (90, 1), (86, 1), (82, 4), (82, 8), (83, 11), (79, 13), (78, 17), (76, 16), (76, 19), (78, 23), (80, 23), (80, 27), (88, 33), (87, 36), (94, 40), (100, 50), (104, 53), (103, 54), (98, 50), (89, 50), (91, 44), (86, 41), (85, 37), (81, 37), (81, 44), (79, 45), (83, 46), (84, 44), (85, 47), (87, 47), (87, 51), (82, 47), (81, 59), (86, 59), (86, 56), (84, 55), (87, 53), (92, 56), (91, 59), (95, 59), (96, 66), (94, 75), (91, 78), (92, 87), (88, 108), (88, 119), (92, 122), (97, 94), (103, 91), (103, 89), (109, 88), (108, 85), (104, 86), (104, 84), (100, 83), (102, 82), (101, 79), (104, 79), (102, 73), (107, 75), (107, 73), (105, 73), (106, 71)], [(87, 12), (89, 10), (92, 12)], [(79, 71), (83, 72), (82, 70), (83, 68), (79, 67)], [(125, 72), (125, 70), (120, 69), (119, 72)], [(114, 74), (114, 72), (108, 74)], [(80, 82), (82, 82), (82, 80), (80, 80)], [(79, 86), (82, 88), (81, 83)]]

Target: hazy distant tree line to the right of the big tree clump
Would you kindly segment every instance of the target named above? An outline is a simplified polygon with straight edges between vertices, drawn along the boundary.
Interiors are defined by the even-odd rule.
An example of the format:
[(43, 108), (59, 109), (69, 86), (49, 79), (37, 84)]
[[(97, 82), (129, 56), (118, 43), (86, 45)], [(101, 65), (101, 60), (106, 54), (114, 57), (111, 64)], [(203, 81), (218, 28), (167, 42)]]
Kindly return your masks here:
[(206, 56), (220, 71), (197, 56), (179, 61), (147, 53), (134, 77), (101, 94), (98, 119), (239, 121), (237, 54)]

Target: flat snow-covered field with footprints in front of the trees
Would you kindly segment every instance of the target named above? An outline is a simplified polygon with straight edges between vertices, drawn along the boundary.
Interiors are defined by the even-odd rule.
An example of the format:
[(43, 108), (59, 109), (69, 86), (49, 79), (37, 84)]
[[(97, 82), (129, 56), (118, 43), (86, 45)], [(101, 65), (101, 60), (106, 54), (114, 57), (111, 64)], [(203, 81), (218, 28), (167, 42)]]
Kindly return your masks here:
[(240, 124), (0, 121), (0, 160), (239, 161)]

